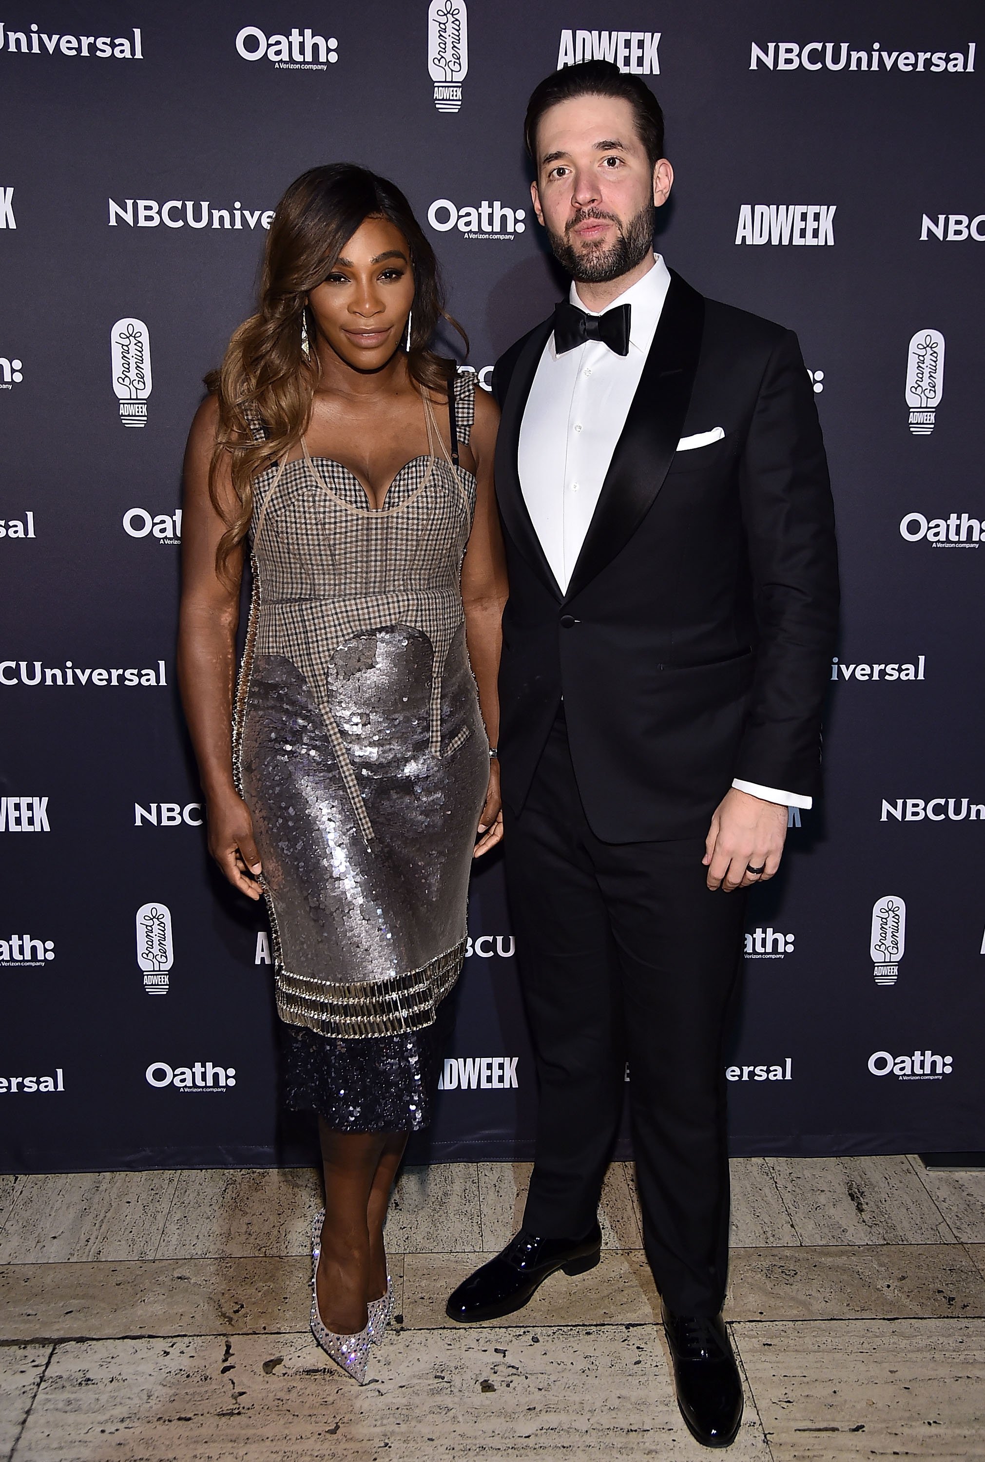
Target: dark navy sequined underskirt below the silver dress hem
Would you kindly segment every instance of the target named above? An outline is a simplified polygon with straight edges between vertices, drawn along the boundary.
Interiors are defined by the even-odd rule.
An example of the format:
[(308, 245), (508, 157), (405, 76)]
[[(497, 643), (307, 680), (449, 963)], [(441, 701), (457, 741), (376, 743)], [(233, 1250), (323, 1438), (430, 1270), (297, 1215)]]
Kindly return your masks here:
[(342, 1039), (281, 1025), (285, 1098), (333, 1132), (421, 1132), (430, 1126), (452, 1000), (422, 1031)]

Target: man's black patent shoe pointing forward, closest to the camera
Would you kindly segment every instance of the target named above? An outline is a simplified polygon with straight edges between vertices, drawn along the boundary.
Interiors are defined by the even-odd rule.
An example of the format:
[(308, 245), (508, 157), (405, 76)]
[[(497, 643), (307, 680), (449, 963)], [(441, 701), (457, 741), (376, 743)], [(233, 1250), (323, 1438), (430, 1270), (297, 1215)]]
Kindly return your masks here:
[(742, 1421), (742, 1382), (725, 1322), (720, 1314), (706, 1319), (662, 1308), (677, 1404), (687, 1430), (701, 1446), (728, 1447)]

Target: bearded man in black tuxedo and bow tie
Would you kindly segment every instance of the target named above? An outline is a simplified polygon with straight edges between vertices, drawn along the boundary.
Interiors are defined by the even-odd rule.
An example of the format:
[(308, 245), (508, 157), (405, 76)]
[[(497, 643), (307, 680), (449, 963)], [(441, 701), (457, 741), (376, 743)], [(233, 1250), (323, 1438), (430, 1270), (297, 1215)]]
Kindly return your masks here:
[(494, 376), (504, 846), (541, 1104), (523, 1227), (449, 1314), (506, 1314), (598, 1263), (628, 1058), (678, 1401), (728, 1446), (722, 1048), (745, 890), (818, 789), (837, 613), (824, 447), (796, 338), (653, 254), (672, 170), (646, 85), (606, 61), (555, 72), (526, 142), (573, 276)]

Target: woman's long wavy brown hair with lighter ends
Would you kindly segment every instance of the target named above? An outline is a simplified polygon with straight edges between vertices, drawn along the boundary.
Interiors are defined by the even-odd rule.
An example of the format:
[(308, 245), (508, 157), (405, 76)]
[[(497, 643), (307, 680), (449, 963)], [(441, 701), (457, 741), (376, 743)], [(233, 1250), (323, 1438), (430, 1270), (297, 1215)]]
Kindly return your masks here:
[[(224, 577), (229, 556), (250, 528), (254, 478), (291, 450), (311, 420), (319, 357), (316, 351), (305, 357), (301, 349), (303, 320), (314, 339), (305, 297), (323, 284), (367, 218), (389, 219), (411, 251), (414, 313), (408, 370), (414, 385), (443, 390), (455, 373), (455, 361), (431, 349), (438, 320), (457, 330), (468, 351), (465, 330), (444, 310), (434, 250), (399, 187), (352, 162), (310, 168), (295, 178), (270, 225), (257, 313), (235, 330), (219, 370), (205, 377), (219, 405), (209, 496), (227, 525), (216, 550), (216, 570)], [(219, 487), (219, 472), (227, 463), (235, 493), (232, 506)]]

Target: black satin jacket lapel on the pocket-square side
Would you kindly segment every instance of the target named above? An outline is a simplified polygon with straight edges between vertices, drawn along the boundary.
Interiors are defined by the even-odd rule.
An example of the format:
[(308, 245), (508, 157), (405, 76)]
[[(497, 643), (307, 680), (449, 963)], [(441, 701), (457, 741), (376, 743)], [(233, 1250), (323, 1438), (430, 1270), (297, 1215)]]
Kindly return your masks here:
[(611, 563), (663, 487), (691, 401), (703, 327), (703, 297), (671, 270), (671, 287), (653, 344), (615, 443), (566, 599), (579, 594)]

